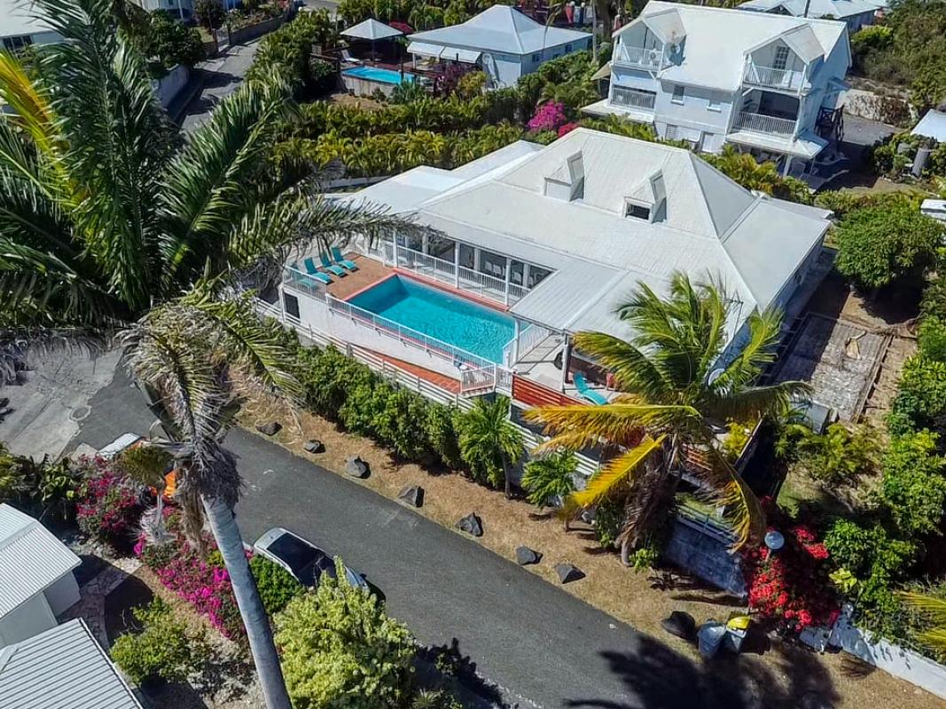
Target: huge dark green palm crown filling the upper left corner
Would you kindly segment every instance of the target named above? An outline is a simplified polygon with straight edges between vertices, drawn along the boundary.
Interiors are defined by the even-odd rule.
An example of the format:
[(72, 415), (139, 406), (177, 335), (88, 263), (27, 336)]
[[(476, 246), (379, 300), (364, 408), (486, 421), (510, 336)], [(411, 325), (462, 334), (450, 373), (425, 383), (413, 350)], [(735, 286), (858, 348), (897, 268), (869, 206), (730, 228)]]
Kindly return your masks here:
[[(292, 112), (248, 80), (182, 136), (114, 0), (37, 0), (62, 43), (26, 68), (0, 52), (0, 344), (114, 330), (193, 284), (396, 223), (342, 208), (269, 161)], [(291, 186), (290, 186), (291, 185)], [(267, 271), (274, 272), (274, 269)], [(21, 346), (16, 346), (21, 345)], [(2, 372), (2, 368), (0, 368)]]

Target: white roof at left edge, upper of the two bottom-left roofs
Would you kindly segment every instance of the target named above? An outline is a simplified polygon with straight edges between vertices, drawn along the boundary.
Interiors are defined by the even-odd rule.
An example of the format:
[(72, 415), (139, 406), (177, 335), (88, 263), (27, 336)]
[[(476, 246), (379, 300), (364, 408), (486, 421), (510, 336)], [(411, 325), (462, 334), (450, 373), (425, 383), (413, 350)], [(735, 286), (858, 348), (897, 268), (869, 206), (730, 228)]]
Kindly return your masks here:
[(0, 617), (78, 565), (79, 557), (43, 525), (20, 510), (0, 505)]

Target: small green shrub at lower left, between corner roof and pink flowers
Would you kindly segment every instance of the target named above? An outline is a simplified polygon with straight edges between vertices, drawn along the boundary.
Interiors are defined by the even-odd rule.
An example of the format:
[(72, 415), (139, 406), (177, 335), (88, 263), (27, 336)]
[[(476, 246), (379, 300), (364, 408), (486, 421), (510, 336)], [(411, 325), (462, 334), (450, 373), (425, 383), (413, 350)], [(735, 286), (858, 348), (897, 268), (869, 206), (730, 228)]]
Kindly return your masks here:
[(166, 603), (156, 599), (131, 614), (142, 631), (120, 635), (111, 654), (133, 682), (184, 682), (206, 666), (210, 659), (206, 633), (190, 630)]

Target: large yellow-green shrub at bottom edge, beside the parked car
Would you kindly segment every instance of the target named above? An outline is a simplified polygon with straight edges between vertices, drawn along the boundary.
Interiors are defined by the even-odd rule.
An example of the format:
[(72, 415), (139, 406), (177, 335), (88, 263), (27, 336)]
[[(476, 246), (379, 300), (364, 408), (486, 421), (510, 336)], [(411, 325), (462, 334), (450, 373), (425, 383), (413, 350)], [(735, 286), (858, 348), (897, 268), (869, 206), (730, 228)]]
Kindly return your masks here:
[(409, 694), (411, 632), (338, 571), (275, 618), (289, 696), (299, 709), (397, 709)]

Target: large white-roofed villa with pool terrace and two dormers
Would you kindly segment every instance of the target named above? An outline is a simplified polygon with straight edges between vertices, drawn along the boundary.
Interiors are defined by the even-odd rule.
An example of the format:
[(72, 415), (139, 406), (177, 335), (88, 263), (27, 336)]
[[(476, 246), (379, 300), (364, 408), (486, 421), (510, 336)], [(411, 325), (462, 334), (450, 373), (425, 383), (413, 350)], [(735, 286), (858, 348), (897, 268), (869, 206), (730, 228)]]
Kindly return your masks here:
[(303, 253), (264, 307), (314, 341), (410, 372), (424, 393), (499, 390), (514, 415), (610, 396), (572, 336), (629, 337), (615, 309), (639, 282), (666, 292), (674, 271), (725, 286), (723, 356), (734, 355), (748, 316), (796, 293), (829, 226), (824, 210), (753, 194), (689, 150), (587, 129), (338, 199), (434, 231)]

